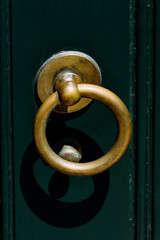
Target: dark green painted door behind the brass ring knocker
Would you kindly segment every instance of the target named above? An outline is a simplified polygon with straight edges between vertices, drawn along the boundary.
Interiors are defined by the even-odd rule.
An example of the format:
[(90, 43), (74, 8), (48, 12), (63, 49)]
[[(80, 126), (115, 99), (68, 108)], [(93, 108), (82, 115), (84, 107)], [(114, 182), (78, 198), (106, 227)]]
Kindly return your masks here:
[[(155, 7), (153, 2), (1, 1), (3, 240), (160, 238), (160, 3)], [(63, 50), (94, 58), (102, 86), (124, 101), (133, 120), (125, 156), (94, 177), (55, 172), (34, 146), (36, 73)], [(53, 116), (47, 131), (51, 144), (74, 139), (85, 158), (93, 160), (113, 145), (117, 126), (112, 113), (94, 102), (72, 119)]]

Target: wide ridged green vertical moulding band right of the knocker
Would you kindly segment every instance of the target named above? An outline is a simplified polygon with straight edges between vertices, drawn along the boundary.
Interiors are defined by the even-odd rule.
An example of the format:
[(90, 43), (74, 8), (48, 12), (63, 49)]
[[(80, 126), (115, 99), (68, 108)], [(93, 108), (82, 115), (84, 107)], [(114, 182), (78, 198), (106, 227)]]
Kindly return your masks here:
[[(138, 16), (136, 11), (138, 11)], [(130, 112), (134, 125), (130, 147), (129, 239), (151, 240), (154, 237), (154, 0), (139, 2), (130, 0), (129, 16)]]

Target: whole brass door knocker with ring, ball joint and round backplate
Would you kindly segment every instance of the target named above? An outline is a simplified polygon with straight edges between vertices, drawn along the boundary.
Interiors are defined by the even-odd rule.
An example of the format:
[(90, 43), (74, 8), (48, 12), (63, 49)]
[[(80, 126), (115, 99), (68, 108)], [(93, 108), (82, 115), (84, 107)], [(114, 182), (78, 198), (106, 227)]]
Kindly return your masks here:
[[(87, 54), (77, 51), (53, 55), (37, 74), (37, 92), (43, 104), (35, 118), (35, 144), (43, 160), (57, 171), (73, 176), (101, 173), (119, 161), (130, 144), (132, 120), (129, 111), (117, 95), (99, 86), (100, 83), (101, 73), (97, 63)], [(104, 156), (92, 162), (66, 160), (63, 153), (57, 155), (47, 141), (47, 119), (52, 111), (75, 112), (87, 106), (92, 99), (104, 103), (113, 112), (118, 123), (117, 140)], [(71, 155), (76, 155), (76, 150), (69, 151)]]

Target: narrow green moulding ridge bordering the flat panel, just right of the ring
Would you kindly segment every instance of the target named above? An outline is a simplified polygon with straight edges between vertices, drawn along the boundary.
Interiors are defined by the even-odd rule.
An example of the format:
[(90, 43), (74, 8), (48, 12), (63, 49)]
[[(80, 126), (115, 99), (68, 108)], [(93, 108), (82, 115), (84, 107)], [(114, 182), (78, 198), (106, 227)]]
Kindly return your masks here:
[(129, 2), (129, 77), (130, 77), (130, 114), (133, 123), (133, 136), (130, 144), (130, 209), (129, 239), (136, 239), (136, 23), (137, 1)]

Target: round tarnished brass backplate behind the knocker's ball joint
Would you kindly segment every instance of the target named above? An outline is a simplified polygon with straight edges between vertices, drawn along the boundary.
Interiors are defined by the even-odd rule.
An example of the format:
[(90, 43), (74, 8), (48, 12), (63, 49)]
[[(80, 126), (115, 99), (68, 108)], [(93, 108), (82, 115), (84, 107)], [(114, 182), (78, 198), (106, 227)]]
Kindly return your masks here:
[[(89, 83), (100, 85), (101, 72), (97, 63), (85, 53), (78, 51), (64, 51), (54, 54), (40, 68), (37, 77), (37, 93), (43, 103), (55, 90), (57, 78), (65, 72), (72, 72), (76, 83)], [(69, 77), (69, 74), (67, 74)], [(87, 106), (92, 99), (82, 97), (81, 100), (72, 106), (59, 105), (54, 111), (59, 113), (76, 112)]]

